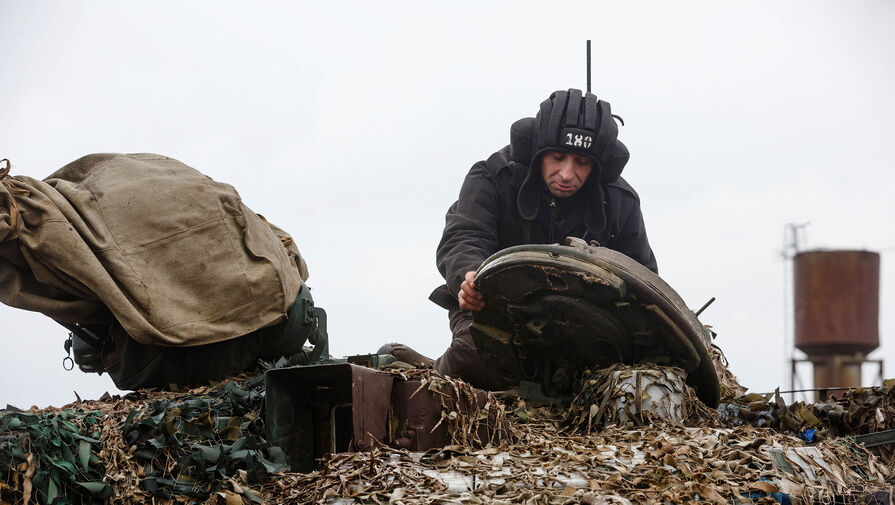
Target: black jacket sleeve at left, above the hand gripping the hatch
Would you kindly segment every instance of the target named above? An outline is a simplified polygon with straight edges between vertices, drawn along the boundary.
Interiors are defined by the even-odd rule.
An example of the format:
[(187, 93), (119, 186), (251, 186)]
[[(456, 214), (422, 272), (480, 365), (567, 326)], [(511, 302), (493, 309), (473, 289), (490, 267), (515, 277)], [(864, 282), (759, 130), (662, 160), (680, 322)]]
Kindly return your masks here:
[(456, 298), (466, 272), (476, 270), (497, 252), (500, 192), (494, 178), (480, 161), (473, 165), (460, 197), (445, 215), (444, 233), (435, 254), (438, 271)]

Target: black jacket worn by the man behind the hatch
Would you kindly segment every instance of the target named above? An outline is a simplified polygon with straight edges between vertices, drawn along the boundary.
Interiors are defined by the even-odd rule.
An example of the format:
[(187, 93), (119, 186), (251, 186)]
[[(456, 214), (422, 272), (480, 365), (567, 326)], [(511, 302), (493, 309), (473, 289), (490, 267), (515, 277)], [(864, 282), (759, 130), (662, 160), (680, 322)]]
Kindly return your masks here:
[[(600, 178), (593, 173), (584, 187), (565, 199), (553, 197), (541, 183), (540, 207), (535, 218), (527, 221), (519, 213), (517, 196), (528, 172), (527, 165), (511, 157), (510, 146), (472, 166), (459, 199), (445, 216), (436, 262), (446, 284), (432, 292), (432, 301), (456, 309), (466, 272), (478, 269), (492, 254), (521, 244), (561, 243), (567, 236), (596, 240), (658, 273), (640, 213), (640, 198), (624, 179), (595, 187)], [(533, 172), (535, 175), (539, 176)], [(587, 205), (594, 195), (603, 195), (605, 215), (605, 226), (596, 232), (585, 225), (588, 209), (600, 208)]]

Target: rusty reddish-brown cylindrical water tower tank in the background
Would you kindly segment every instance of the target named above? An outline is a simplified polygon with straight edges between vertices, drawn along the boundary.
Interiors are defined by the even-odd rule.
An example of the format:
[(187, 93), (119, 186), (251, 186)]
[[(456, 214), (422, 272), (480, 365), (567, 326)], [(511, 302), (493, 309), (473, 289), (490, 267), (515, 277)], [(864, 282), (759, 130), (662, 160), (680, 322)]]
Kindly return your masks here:
[(809, 356), (879, 347), (879, 254), (805, 251), (793, 258), (795, 344)]

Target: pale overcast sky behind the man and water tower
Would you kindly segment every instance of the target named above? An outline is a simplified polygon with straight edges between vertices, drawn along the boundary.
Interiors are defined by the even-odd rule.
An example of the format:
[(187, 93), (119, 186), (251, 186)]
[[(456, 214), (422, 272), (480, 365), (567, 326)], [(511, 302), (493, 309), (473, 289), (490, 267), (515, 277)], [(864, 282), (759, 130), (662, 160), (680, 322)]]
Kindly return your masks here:
[[(702, 319), (762, 392), (789, 386), (790, 222), (811, 223), (804, 248), (882, 252), (873, 356), (895, 366), (893, 21), (888, 1), (6, 0), (0, 158), (34, 178), (93, 152), (177, 158), (292, 233), (334, 355), (436, 357), (444, 212), (514, 120), (586, 85), (592, 39), (662, 277), (694, 309), (717, 297)], [(0, 407), (115, 392), (62, 369), (45, 316), (0, 306), (0, 331)]]

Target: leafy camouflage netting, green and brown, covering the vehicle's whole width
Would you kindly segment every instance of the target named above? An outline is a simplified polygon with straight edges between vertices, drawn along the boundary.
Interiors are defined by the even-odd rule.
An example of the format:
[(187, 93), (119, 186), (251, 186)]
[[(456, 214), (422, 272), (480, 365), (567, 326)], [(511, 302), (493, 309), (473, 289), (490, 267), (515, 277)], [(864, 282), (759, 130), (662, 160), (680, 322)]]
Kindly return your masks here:
[[(617, 388), (630, 372), (589, 372), (560, 408), (493, 395), (481, 403), (462, 381), (391, 370), (443, 398), (451, 444), (426, 453), (377, 444), (327, 456), (307, 474), (284, 471), (282, 452), (264, 439), (260, 379), (3, 412), (0, 501), (859, 503), (893, 491), (891, 466), (840, 436), (892, 426), (892, 381), (818, 405), (746, 395), (720, 415), (683, 388), (679, 422), (646, 412), (616, 425), (619, 410), (601, 406), (630, 395)], [(814, 444), (795, 436), (814, 422), (808, 412), (826, 436)]]

